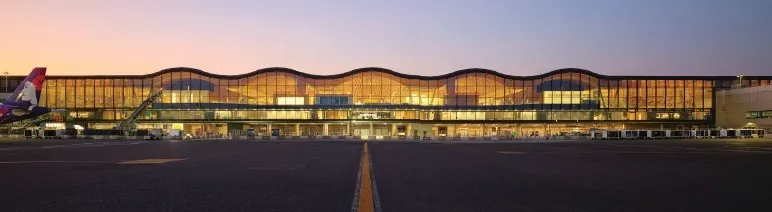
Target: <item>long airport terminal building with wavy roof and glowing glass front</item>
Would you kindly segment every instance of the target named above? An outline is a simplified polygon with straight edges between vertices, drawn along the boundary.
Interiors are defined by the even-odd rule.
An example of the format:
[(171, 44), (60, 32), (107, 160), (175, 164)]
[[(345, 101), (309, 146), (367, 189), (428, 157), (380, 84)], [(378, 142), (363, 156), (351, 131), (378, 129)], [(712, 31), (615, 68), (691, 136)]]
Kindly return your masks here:
[[(55, 73), (55, 72), (52, 72)], [(5, 94), (23, 76), (0, 82)], [(16, 84), (14, 84), (16, 83)], [(772, 76), (606, 76), (560, 69), (511, 76), (466, 69), (419, 76), (383, 68), (313, 75), (266, 68), (218, 75), (170, 68), (147, 75), (49, 75), (48, 128), (111, 129), (154, 92), (139, 128), (282, 135), (491, 136), (586, 133), (592, 128), (711, 128), (716, 93)], [(772, 110), (772, 108), (769, 108)]]

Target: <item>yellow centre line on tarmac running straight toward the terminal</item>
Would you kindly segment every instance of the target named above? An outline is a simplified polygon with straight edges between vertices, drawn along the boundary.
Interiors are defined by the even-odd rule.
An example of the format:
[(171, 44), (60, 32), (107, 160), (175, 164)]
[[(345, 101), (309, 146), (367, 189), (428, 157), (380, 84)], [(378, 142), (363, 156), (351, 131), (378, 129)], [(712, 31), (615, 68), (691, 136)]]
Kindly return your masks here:
[(370, 152), (365, 142), (357, 176), (357, 188), (354, 191), (354, 201), (351, 206), (352, 212), (381, 212), (378, 187), (375, 184), (373, 164), (370, 159)]

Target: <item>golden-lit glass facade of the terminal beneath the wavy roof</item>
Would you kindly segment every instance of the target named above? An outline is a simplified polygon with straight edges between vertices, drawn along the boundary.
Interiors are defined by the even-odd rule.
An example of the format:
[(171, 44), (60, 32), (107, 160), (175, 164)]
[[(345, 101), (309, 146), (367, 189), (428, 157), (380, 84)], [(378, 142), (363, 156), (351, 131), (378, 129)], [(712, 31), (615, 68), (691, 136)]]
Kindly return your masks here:
[(533, 77), (488, 70), (421, 77), (384, 69), (221, 76), (176, 68), (145, 76), (49, 76), (41, 102), (66, 109), (63, 119), (97, 122), (126, 117), (162, 88), (162, 98), (140, 121), (710, 122), (713, 91), (738, 83), (725, 78), (602, 76), (579, 69)]

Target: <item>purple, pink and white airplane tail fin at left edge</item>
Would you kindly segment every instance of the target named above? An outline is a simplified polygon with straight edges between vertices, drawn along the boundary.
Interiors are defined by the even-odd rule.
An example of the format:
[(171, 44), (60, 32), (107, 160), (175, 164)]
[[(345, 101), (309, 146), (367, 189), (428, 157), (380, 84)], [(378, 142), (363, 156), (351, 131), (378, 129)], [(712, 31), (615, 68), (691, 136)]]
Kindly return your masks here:
[(43, 83), (46, 81), (46, 68), (37, 67), (32, 69), (27, 78), (19, 83), (19, 87), (8, 96), (4, 104), (29, 103), (38, 105), (40, 101), (40, 91), (43, 89)]

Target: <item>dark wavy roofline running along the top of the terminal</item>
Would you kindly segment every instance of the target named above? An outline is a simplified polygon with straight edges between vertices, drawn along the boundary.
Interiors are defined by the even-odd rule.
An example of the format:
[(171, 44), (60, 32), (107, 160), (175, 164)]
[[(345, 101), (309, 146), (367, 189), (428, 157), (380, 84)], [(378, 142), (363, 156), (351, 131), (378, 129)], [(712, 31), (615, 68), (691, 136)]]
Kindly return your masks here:
[[(541, 79), (545, 77), (549, 77), (555, 74), (561, 74), (561, 73), (581, 73), (586, 74), (595, 78), (599, 79), (734, 79), (735, 76), (621, 76), (621, 75), (603, 75), (598, 74), (586, 69), (580, 69), (580, 68), (563, 68), (563, 69), (557, 69), (550, 72), (546, 72), (544, 74), (539, 75), (531, 75), (531, 76), (514, 76), (514, 75), (508, 75), (503, 74), (494, 70), (490, 69), (484, 69), (484, 68), (468, 68), (468, 69), (461, 69), (457, 70), (451, 73), (443, 74), (443, 75), (436, 75), (436, 76), (422, 76), (422, 75), (413, 75), (413, 74), (404, 74), (400, 72), (393, 71), (391, 69), (381, 68), (381, 67), (365, 67), (365, 68), (358, 68), (351, 71), (343, 72), (340, 74), (332, 74), (332, 75), (316, 75), (316, 74), (309, 74), (305, 72), (300, 72), (294, 69), (290, 68), (284, 68), (284, 67), (269, 67), (269, 68), (262, 68), (257, 69), (252, 72), (244, 73), (244, 74), (236, 74), (236, 75), (221, 75), (221, 74), (214, 74), (210, 73), (201, 69), (196, 68), (190, 68), (190, 67), (174, 67), (174, 68), (167, 68), (163, 69), (154, 73), (149, 74), (143, 74), (143, 75), (62, 75), (62, 76), (50, 76), (50, 78), (131, 78), (131, 79), (141, 79), (141, 78), (151, 78), (151, 77), (157, 77), (166, 73), (173, 73), (173, 72), (191, 72), (196, 73), (202, 76), (206, 77), (212, 77), (212, 78), (220, 78), (220, 79), (241, 79), (245, 77), (251, 77), (262, 73), (268, 73), (268, 72), (284, 72), (289, 74), (294, 74), (298, 76), (302, 76), (305, 78), (313, 78), (313, 79), (335, 79), (335, 78), (342, 78), (358, 73), (363, 72), (381, 72), (386, 73), (390, 75), (394, 75), (401, 78), (407, 78), (407, 79), (421, 79), (421, 80), (438, 80), (438, 79), (448, 79), (451, 77), (463, 75), (463, 74), (469, 74), (469, 73), (485, 73), (485, 74), (491, 74), (494, 76), (498, 76), (505, 79), (515, 79), (515, 80), (529, 80), (529, 79)], [(764, 78), (764, 79), (772, 79), (772, 76), (744, 76), (746, 79), (755, 79), (755, 78)]]

